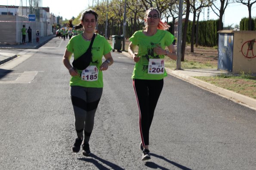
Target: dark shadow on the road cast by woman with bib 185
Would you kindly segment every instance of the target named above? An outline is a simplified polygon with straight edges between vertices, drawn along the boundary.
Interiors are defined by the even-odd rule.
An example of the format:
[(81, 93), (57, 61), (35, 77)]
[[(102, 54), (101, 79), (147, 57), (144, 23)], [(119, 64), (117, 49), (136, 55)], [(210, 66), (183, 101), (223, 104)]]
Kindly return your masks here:
[[(94, 159), (92, 159), (92, 158), (94, 158)], [(124, 170), (123, 168), (119, 167), (118, 165), (113, 164), (109, 161), (106, 161), (102, 158), (99, 158), (98, 156), (96, 156), (94, 154), (91, 154), (89, 157), (86, 157), (86, 158), (78, 158), (78, 159), (81, 161), (93, 163), (97, 168), (99, 168), (99, 170), (109, 170), (108, 167), (105, 167), (104, 165), (100, 164), (99, 161), (102, 162), (103, 164), (108, 165), (109, 167), (113, 168), (114, 170)]]

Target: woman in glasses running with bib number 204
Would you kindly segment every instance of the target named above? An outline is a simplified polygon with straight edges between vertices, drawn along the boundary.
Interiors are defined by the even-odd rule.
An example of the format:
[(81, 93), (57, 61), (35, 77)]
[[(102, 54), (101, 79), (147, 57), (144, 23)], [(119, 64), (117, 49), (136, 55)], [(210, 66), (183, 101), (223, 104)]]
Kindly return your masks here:
[[(157, 9), (150, 8), (145, 14), (144, 30), (136, 31), (129, 39), (128, 52), (135, 63), (133, 70), (133, 88), (139, 107), (140, 149), (142, 161), (150, 159), (149, 129), (154, 116), (158, 98), (163, 89), (163, 78), (167, 76), (164, 69), (164, 57), (177, 59), (173, 47), (174, 36), (167, 31), (167, 24), (160, 20)], [(138, 46), (138, 52), (135, 47)], [(168, 50), (165, 50), (165, 48)]]

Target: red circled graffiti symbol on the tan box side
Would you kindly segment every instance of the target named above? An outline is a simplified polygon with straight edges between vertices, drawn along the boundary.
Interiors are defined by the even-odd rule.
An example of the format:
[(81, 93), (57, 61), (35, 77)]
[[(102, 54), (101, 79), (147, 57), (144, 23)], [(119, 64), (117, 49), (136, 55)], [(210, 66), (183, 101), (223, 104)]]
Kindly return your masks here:
[(244, 57), (246, 58), (254, 58), (256, 57), (256, 47), (253, 48), (253, 46), (256, 44), (255, 39), (245, 42), (242, 45), (241, 52)]

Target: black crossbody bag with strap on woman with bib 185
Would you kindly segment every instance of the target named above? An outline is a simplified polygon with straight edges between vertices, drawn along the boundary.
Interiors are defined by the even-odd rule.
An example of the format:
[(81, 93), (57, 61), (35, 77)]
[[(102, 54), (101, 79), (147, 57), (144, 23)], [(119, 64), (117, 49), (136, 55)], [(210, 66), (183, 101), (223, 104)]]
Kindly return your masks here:
[(72, 62), (72, 65), (75, 69), (84, 70), (90, 65), (90, 62), (91, 62), (92, 57), (93, 57), (93, 55), (92, 55), (92, 46), (93, 46), (94, 38), (95, 38), (95, 33), (93, 34), (93, 38), (91, 40), (91, 43), (90, 43), (89, 48), (87, 49), (87, 51), (83, 55), (78, 57), (77, 60), (74, 60)]

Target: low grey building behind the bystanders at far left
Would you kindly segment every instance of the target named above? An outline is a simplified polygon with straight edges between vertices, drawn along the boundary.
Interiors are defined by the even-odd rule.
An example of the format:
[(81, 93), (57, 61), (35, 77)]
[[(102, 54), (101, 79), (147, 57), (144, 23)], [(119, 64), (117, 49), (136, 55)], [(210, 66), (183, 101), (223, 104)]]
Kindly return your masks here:
[[(1, 6), (0, 5), (0, 27), (4, 34), (0, 37), (0, 44), (20, 44), (22, 42), (22, 25), (32, 29), (32, 42), (35, 41), (36, 31), (40, 36), (55, 34), (56, 29), (52, 27), (57, 23), (57, 17), (49, 12), (49, 7), (32, 8), (29, 6)], [(35, 21), (29, 16), (35, 16)], [(28, 41), (28, 36), (26, 36)]]

